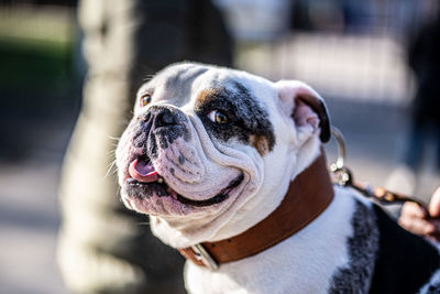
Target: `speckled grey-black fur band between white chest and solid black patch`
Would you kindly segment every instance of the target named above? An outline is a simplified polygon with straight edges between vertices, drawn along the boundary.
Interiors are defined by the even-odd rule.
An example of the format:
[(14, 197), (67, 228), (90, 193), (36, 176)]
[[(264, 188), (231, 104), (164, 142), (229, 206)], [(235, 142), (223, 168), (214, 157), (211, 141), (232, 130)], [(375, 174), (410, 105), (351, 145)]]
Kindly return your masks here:
[(366, 293), (374, 270), (378, 246), (378, 229), (373, 211), (356, 202), (351, 225), (353, 236), (348, 239), (350, 262), (338, 269), (329, 293)]

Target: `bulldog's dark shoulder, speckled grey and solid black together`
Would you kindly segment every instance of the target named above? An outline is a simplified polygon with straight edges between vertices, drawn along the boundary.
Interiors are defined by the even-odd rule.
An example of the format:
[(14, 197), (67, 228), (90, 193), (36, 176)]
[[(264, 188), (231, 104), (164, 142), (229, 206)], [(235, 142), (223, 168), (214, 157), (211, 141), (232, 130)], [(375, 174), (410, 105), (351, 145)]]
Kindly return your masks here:
[(380, 206), (354, 197), (349, 262), (329, 293), (440, 293), (440, 257), (433, 244), (393, 220)]

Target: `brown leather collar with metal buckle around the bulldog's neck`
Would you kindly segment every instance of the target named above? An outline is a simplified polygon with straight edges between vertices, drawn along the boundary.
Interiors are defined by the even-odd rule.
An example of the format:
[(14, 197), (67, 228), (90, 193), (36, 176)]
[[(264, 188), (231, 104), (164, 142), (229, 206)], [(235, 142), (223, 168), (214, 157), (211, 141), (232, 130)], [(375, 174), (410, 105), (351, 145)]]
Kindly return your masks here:
[(306, 227), (330, 205), (333, 196), (326, 156), (321, 151), (321, 155), (290, 183), (280, 205), (265, 219), (230, 239), (204, 242), (178, 251), (194, 263), (210, 269), (254, 255)]

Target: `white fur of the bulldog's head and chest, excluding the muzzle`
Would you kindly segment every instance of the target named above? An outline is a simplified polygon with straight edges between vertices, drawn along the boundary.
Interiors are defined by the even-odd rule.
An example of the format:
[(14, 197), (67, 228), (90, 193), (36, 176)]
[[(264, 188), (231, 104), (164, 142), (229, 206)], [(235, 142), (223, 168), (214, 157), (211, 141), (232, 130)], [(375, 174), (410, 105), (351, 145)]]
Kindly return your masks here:
[[(173, 66), (165, 72), (173, 73), (185, 66), (188, 65)], [(271, 152), (261, 156), (248, 144), (235, 141), (222, 143), (209, 138), (194, 112), (194, 105), (197, 94), (210, 85), (213, 77), (229, 77), (240, 81), (267, 110), (276, 138), (276, 144)], [(160, 76), (158, 79), (164, 77)], [(155, 95), (165, 96), (166, 92), (166, 88), (160, 87)], [(307, 113), (310, 117), (300, 123), (296, 123), (292, 118), (297, 107), (296, 96), (300, 92), (318, 96), (300, 81), (271, 83), (228, 68), (208, 67), (206, 73), (198, 76), (191, 85), (190, 95), (180, 97), (179, 109), (190, 119), (190, 126), (194, 128), (191, 132), (200, 141), (206, 156), (215, 159), (221, 165), (248, 166), (245, 173), (251, 177), (249, 183), (253, 186), (249, 189), (242, 188), (241, 193), (245, 195), (241, 195), (237, 203), (220, 204), (220, 208), (216, 210), (218, 215), (200, 210), (187, 216), (151, 216), (153, 233), (172, 247), (185, 248), (202, 241), (217, 241), (237, 236), (270, 215), (282, 202), (290, 181), (310, 165), (320, 152), (316, 116)], [(157, 104), (173, 105), (173, 101), (162, 99)], [(136, 107), (134, 117), (140, 116), (142, 111), (144, 110)], [(121, 141), (129, 142), (130, 135), (130, 132), (125, 132)], [(127, 152), (127, 148), (118, 148), (120, 168), (127, 166), (123, 162)], [(124, 178), (124, 171), (120, 171), (120, 178)], [(238, 198), (238, 195), (233, 196)], [(358, 199), (350, 192), (336, 188), (333, 202), (316, 220), (290, 238), (254, 257), (222, 264), (218, 271), (187, 262), (187, 290), (194, 294), (327, 293), (336, 269), (349, 262), (346, 240), (354, 233), (350, 220), (359, 202), (371, 206), (369, 202)]]

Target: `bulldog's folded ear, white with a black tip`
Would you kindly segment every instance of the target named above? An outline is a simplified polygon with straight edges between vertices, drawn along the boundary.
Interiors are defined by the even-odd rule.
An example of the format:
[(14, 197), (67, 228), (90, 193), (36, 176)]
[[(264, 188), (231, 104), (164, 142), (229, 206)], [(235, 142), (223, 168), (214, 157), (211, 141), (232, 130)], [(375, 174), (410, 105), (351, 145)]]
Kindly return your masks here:
[(283, 110), (287, 111), (296, 126), (310, 126), (320, 129), (319, 138), (323, 143), (330, 140), (330, 118), (326, 104), (319, 94), (299, 80), (279, 80), (275, 84)]

